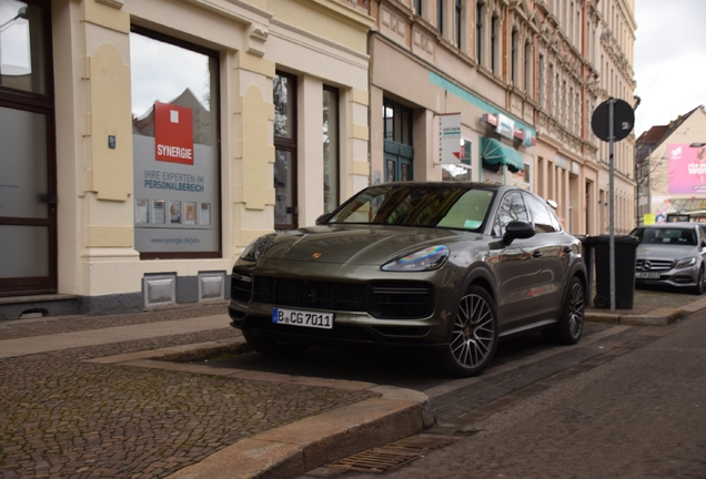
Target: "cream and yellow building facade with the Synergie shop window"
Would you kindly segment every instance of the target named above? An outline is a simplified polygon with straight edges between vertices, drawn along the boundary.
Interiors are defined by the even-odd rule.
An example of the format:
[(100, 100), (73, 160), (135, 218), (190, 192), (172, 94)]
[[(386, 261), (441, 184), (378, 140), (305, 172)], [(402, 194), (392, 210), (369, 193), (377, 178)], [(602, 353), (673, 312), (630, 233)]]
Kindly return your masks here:
[(367, 185), (365, 2), (0, 0), (0, 317), (224, 299), (253, 238)]

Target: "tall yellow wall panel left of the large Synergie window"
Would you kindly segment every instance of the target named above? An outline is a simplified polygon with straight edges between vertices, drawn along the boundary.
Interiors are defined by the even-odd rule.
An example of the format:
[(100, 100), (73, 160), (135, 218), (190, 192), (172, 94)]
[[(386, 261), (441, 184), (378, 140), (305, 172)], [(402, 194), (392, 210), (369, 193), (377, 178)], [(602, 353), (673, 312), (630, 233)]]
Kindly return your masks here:
[[(119, 51), (102, 44), (89, 57), (90, 188), (100, 200), (125, 201), (132, 193), (132, 125), (130, 123), (130, 68)], [(115, 136), (110, 149), (108, 137)]]

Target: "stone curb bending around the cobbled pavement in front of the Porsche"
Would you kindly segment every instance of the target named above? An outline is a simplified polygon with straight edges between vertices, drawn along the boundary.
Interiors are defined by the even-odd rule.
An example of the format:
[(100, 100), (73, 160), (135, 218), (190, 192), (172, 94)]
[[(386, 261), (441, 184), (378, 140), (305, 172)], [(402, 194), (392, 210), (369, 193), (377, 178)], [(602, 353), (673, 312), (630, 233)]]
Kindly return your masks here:
[[(322, 379), (188, 364), (219, 354), (250, 351), (244, 338), (167, 347), (87, 359), (85, 363), (148, 367), (248, 380), (266, 380), (380, 395), (281, 426), (228, 446), (169, 479), (291, 478), (434, 426), (428, 397), (412, 389), (365, 381)], [(176, 361), (176, 363), (173, 363)], [(234, 465), (238, 465), (234, 468)]]

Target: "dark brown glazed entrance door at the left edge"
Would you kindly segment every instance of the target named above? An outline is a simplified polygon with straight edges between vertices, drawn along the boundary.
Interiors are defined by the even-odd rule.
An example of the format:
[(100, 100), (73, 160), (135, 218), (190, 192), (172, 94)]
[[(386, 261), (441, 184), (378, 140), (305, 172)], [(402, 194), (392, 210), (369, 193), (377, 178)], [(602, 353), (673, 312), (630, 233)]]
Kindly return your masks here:
[(49, 18), (48, 2), (0, 0), (0, 296), (57, 292)]

